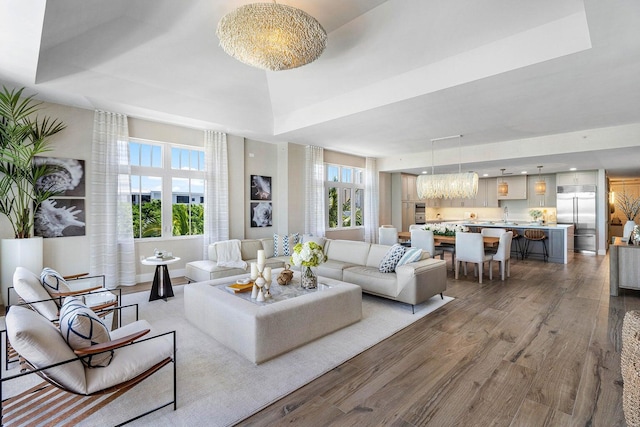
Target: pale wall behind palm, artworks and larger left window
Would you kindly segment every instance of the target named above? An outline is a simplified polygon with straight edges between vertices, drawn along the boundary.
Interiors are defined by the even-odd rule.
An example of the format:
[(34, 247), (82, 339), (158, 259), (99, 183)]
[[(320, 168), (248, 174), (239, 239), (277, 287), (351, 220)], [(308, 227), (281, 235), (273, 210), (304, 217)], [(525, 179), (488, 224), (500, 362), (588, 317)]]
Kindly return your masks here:
[[(91, 145), (93, 139), (93, 110), (59, 104), (43, 104), (41, 115), (63, 121), (67, 128), (52, 138), (51, 157), (66, 157), (85, 161), (86, 196), (85, 210), (91, 204)], [(133, 138), (173, 142), (202, 147), (203, 130), (174, 126), (166, 123), (129, 118), (129, 135)], [(272, 144), (245, 140), (228, 135), (229, 155), (229, 205), (230, 237), (268, 237), (273, 233), (303, 232), (304, 216), (304, 147), (295, 144)], [(250, 157), (253, 154), (253, 157)], [(284, 170), (283, 176), (280, 172)], [(249, 217), (250, 175), (271, 176), (273, 181), (274, 226), (251, 228)], [(281, 187), (282, 186), (282, 187)], [(291, 206), (289, 201), (291, 200)], [(284, 222), (283, 222), (284, 221)], [(87, 215), (87, 228), (90, 218)], [(13, 238), (8, 220), (0, 218), (0, 238)], [(89, 271), (89, 237), (60, 237), (44, 239), (44, 265), (60, 273), (74, 274)], [(136, 259), (148, 256), (154, 248), (172, 251), (181, 261), (171, 266), (171, 275), (184, 274), (184, 265), (202, 259), (201, 237), (176, 237), (166, 240), (136, 242)], [(137, 265), (137, 280), (147, 281), (153, 277), (153, 267)]]

